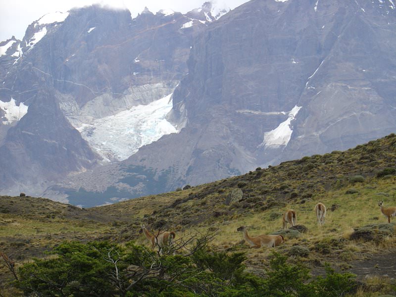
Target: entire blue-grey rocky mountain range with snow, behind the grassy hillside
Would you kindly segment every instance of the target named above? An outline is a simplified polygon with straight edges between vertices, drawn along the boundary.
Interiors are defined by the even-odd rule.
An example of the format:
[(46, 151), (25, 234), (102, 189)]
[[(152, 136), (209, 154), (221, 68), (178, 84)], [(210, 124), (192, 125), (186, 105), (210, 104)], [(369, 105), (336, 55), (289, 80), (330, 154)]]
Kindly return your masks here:
[[(33, 23), (22, 57), (0, 72), (9, 72), (0, 99), (12, 110), (29, 106), (24, 119), (40, 94), (53, 94), (52, 113), (60, 109), (69, 124), (59, 125), (80, 132), (80, 145), (7, 120), (2, 193), (50, 186), (44, 196), (93, 206), (395, 131), (393, 1), (251, 0), (217, 19), (212, 12), (205, 3), (185, 15), (146, 9), (131, 19), (93, 6)], [(11, 47), (0, 57), (6, 65), (17, 41)], [(40, 135), (33, 147), (44, 149), (13, 136), (33, 137), (23, 131)], [(55, 143), (70, 162), (60, 162)]]

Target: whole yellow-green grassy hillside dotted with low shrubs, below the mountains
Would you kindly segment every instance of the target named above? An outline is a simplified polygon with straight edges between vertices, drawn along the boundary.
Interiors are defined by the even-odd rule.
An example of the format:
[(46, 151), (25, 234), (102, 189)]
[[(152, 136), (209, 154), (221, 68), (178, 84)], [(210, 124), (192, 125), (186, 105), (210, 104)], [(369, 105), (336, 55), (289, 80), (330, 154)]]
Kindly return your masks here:
[[(396, 206), (395, 134), (347, 151), (307, 156), (185, 190), (89, 209), (42, 198), (1, 197), (0, 246), (24, 261), (43, 256), (63, 240), (133, 240), (147, 245), (138, 233), (145, 222), (153, 229), (173, 230), (179, 237), (193, 229), (218, 230), (213, 249), (245, 251), (247, 269), (261, 274), (273, 248), (248, 247), (236, 229), (249, 225), (250, 235), (280, 231), (283, 212), (293, 208), (297, 224), (308, 231), (286, 234), (286, 243), (275, 249), (305, 262), (314, 273), (321, 273), (326, 261), (348, 270), (368, 254), (396, 248), (395, 225), (388, 224), (378, 200)], [(322, 227), (313, 212), (319, 201), (328, 208)], [(360, 230), (361, 239), (351, 239), (355, 229), (366, 225), (372, 226)], [(7, 272), (2, 268), (0, 273), (4, 278)]]

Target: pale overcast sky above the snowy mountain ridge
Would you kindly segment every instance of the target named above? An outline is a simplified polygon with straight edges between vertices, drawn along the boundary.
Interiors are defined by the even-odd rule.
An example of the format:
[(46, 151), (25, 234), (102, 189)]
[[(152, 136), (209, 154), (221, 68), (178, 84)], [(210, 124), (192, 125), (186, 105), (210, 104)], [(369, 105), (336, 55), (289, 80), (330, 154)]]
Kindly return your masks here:
[[(22, 40), (28, 25), (49, 12), (65, 12), (73, 7), (82, 7), (93, 3), (113, 7), (129, 8), (132, 17), (140, 13), (145, 6), (155, 13), (170, 8), (185, 13), (201, 7), (205, 0), (0, 0), (0, 41), (14, 35)], [(214, 2), (214, 1), (212, 1)], [(231, 9), (247, 0), (216, 0), (216, 5)]]

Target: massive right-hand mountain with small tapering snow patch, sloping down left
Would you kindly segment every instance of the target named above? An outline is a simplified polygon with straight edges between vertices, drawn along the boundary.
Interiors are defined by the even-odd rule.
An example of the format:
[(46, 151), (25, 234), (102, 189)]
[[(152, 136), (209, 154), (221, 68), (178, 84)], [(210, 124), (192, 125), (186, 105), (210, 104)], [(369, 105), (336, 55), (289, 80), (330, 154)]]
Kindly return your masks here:
[(394, 132), (395, 16), (389, 0), (237, 7), (194, 42), (167, 115), (178, 134), (48, 195), (66, 192), (86, 205), (133, 198)]

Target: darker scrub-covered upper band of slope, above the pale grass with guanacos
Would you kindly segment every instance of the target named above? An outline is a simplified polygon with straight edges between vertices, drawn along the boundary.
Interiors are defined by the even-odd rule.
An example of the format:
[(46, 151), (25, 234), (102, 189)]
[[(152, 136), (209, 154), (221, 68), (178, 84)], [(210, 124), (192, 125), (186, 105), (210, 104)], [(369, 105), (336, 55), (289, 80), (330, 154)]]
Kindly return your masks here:
[[(224, 220), (236, 214), (261, 213), (287, 204), (304, 204), (353, 187), (355, 180), (360, 181), (357, 185), (377, 183), (376, 175), (385, 168), (392, 168), (390, 172), (394, 174), (395, 160), (396, 136), (391, 134), (347, 151), (306, 156), (182, 192), (133, 199), (99, 207), (98, 210), (106, 213), (128, 212), (132, 216), (135, 207), (148, 203), (150, 199), (149, 208), (145, 209), (150, 223), (166, 221), (169, 227), (180, 225), (186, 228), (199, 223), (207, 224), (208, 220), (215, 221), (219, 216), (223, 216), (221, 220)], [(239, 202), (226, 205), (234, 189), (241, 189), (243, 197)], [(173, 199), (170, 199), (172, 196)], [(164, 202), (159, 201), (165, 199), (168, 202), (160, 206), (158, 203)]]

